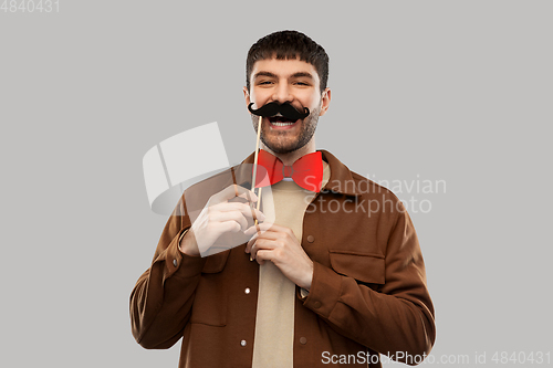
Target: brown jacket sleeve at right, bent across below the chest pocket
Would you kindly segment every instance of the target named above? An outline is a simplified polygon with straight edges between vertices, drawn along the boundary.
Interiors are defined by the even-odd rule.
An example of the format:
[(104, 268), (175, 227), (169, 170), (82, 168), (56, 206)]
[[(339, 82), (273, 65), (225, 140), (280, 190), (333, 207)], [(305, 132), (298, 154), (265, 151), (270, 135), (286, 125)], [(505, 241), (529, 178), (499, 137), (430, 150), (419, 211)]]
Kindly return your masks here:
[(400, 208), (386, 246), (385, 284), (375, 291), (314, 262), (304, 305), (343, 336), (415, 365), (429, 354), (436, 327), (415, 228)]

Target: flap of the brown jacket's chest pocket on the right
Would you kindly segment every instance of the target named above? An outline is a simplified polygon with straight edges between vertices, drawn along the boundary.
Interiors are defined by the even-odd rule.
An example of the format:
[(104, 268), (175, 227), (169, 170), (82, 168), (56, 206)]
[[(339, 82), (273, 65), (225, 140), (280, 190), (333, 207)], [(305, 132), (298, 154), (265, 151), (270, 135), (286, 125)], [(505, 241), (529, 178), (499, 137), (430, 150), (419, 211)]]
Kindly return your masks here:
[(384, 255), (330, 250), (331, 266), (337, 273), (366, 284), (383, 285), (386, 282)]

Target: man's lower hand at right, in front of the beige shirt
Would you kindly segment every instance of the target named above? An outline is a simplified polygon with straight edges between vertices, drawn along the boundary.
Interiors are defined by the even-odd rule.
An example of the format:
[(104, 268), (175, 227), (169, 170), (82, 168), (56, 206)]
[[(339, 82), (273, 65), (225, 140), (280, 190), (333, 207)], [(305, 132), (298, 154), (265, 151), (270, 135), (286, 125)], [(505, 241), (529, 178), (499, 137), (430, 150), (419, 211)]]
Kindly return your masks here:
[(244, 232), (247, 235), (255, 234), (246, 245), (246, 253), (250, 253), (259, 264), (271, 261), (284, 276), (309, 291), (313, 280), (313, 261), (293, 231), (271, 223), (259, 224), (259, 230), (255, 233), (255, 227), (251, 227)]

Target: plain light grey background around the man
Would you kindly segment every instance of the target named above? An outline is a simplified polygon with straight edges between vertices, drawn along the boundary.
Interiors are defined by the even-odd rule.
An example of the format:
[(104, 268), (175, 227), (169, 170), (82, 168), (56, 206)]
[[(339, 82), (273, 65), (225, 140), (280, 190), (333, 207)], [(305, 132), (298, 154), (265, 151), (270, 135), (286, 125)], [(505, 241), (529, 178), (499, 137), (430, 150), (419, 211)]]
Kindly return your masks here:
[(231, 162), (251, 153), (246, 53), (283, 29), (331, 56), (319, 148), (375, 180), (447, 182), (397, 192), (431, 202), (411, 218), (437, 311), (432, 355), (472, 366), (487, 353), (495, 366), (495, 351), (550, 351), (552, 10), (60, 0), (59, 13), (1, 11), (0, 365), (177, 366), (178, 344), (145, 350), (131, 335), (128, 296), (166, 222), (148, 208), (142, 158), (215, 120)]

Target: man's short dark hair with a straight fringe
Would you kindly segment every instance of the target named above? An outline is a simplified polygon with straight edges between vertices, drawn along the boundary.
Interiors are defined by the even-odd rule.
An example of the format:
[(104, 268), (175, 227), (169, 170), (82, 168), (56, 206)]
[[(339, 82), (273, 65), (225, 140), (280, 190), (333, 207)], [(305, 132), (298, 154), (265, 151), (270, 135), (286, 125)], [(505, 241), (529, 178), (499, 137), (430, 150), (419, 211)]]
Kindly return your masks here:
[(250, 75), (259, 60), (300, 59), (313, 65), (321, 80), (321, 92), (328, 81), (328, 55), (326, 51), (305, 34), (298, 31), (280, 31), (259, 39), (248, 52), (246, 60), (246, 87), (250, 91)]

